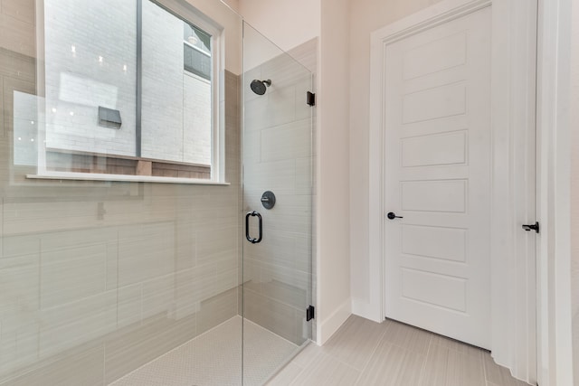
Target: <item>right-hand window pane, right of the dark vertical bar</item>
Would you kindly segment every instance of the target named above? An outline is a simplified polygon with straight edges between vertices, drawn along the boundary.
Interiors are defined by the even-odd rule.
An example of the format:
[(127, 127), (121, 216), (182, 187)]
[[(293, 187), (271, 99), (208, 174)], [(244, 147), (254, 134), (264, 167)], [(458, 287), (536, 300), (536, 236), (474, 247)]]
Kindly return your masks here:
[[(193, 29), (191, 22), (149, 0), (142, 5), (141, 155), (205, 168), (209, 178), (214, 121), (211, 51), (197, 51), (183, 40), (184, 30)], [(211, 42), (211, 35), (204, 33), (204, 40)], [(203, 47), (209, 50), (210, 45)], [(174, 175), (170, 170), (165, 168), (163, 174), (179, 176), (176, 168)]]

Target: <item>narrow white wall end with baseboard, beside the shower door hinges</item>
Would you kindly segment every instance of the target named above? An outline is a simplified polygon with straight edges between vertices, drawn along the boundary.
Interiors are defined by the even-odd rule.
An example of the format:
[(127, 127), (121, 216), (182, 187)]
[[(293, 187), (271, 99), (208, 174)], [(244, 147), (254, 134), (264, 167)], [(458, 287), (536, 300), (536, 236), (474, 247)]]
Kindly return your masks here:
[(351, 312), (348, 0), (321, 1), (318, 89), (318, 343)]

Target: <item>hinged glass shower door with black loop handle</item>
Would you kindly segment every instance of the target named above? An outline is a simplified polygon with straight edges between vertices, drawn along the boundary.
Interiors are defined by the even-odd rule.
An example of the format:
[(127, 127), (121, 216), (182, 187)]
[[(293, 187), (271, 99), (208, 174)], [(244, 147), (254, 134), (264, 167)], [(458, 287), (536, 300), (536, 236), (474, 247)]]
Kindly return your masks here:
[(243, 384), (259, 385), (311, 337), (312, 76), (248, 24), (243, 46), (243, 209), (262, 221), (243, 240)]

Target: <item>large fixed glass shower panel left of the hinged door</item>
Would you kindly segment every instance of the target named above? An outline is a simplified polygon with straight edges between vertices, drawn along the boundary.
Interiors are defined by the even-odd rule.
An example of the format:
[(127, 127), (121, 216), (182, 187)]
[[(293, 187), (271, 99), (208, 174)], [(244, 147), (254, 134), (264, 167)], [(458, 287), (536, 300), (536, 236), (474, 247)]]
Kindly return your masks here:
[[(2, 2), (0, 385), (241, 384), (242, 24), (219, 2), (199, 3), (163, 5), (193, 25), (193, 14), (214, 20), (225, 36), (212, 81), (229, 185), (27, 178), (39, 161), (134, 170), (138, 1), (45, 0), (41, 13), (33, 1)], [(182, 84), (184, 24), (174, 24)], [(119, 111), (121, 127), (100, 126), (99, 106)], [(50, 159), (44, 140), (58, 150)]]

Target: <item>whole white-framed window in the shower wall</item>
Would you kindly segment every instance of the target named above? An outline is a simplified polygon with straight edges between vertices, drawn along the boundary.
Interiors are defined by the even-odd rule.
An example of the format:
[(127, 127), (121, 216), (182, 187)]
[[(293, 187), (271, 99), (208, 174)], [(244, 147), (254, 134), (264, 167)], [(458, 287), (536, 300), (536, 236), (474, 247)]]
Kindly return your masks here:
[(219, 182), (217, 24), (151, 0), (43, 5), (38, 174)]

